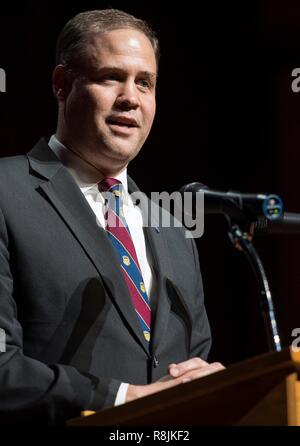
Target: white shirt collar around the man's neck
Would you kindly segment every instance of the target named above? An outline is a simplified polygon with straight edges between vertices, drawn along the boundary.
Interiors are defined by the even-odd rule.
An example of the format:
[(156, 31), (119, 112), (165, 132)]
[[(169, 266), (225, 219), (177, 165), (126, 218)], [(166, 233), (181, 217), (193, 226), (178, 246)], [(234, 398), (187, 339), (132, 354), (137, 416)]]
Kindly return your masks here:
[[(55, 135), (51, 136), (48, 145), (50, 149), (55, 153), (57, 158), (64, 165), (64, 167), (72, 175), (81, 192), (84, 195), (95, 195), (95, 198), (99, 194), (100, 200), (104, 203), (104, 198), (98, 189), (98, 183), (103, 180), (103, 176), (101, 175), (101, 173), (91, 164), (87, 163), (78, 155), (75, 155), (75, 153), (69, 150), (66, 146), (64, 146)], [(124, 169), (119, 175), (116, 175), (114, 178), (121, 181), (123, 185), (123, 203), (132, 205), (133, 203), (128, 193), (127, 169)]]

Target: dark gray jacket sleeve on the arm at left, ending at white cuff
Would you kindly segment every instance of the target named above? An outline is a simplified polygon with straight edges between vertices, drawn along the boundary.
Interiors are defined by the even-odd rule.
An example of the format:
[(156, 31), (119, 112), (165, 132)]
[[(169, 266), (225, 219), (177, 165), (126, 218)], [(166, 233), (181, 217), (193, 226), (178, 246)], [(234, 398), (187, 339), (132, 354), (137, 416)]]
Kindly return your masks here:
[(119, 381), (80, 373), (67, 365), (47, 365), (24, 355), (12, 260), (0, 210), (0, 328), (6, 337), (5, 351), (0, 352), (0, 423), (59, 424), (83, 409), (113, 406)]

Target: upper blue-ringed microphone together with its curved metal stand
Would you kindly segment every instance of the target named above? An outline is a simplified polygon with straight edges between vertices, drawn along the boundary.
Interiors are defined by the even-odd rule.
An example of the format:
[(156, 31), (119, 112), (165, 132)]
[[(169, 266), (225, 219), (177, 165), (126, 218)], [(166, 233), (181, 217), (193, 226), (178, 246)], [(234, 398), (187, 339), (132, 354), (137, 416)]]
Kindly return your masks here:
[(279, 221), (283, 218), (283, 201), (278, 195), (241, 194), (210, 190), (201, 183), (183, 186), (180, 192), (204, 193), (204, 213), (223, 214), (228, 222), (228, 236), (233, 246), (242, 251), (254, 272), (262, 318), (270, 351), (280, 351), (281, 341), (277, 328), (273, 298), (263, 262), (253, 243), (253, 224), (259, 219)]

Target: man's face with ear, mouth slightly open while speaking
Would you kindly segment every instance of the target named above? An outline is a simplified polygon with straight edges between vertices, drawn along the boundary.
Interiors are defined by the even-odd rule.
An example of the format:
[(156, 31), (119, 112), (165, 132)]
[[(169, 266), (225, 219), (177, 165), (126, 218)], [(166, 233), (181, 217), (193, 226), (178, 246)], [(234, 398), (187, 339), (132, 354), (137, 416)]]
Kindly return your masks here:
[(125, 166), (155, 115), (153, 47), (137, 30), (114, 30), (91, 37), (86, 57), (65, 102), (67, 140), (97, 166)]

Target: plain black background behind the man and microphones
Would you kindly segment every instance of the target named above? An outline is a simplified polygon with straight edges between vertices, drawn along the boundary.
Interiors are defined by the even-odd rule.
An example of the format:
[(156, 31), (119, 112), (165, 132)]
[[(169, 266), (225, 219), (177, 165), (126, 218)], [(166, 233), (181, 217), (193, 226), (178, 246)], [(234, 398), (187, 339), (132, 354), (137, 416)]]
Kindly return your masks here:
[[(23, 1), (1, 4), (0, 154), (26, 153), (55, 131), (51, 75), (55, 40), (78, 12), (107, 6), (148, 20), (161, 41), (158, 112), (129, 173), (147, 193), (200, 181), (211, 188), (281, 195), (300, 212), (298, 1)], [(198, 7), (196, 9), (196, 5)], [(84, 111), (83, 111), (84, 112)], [(9, 185), (8, 185), (9, 187)], [(282, 344), (300, 327), (300, 236), (254, 240), (270, 280)], [(267, 351), (252, 271), (221, 216), (197, 241), (213, 331), (211, 360)]]

